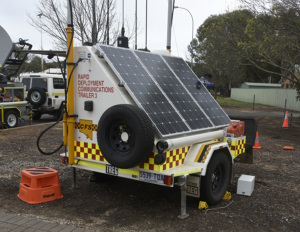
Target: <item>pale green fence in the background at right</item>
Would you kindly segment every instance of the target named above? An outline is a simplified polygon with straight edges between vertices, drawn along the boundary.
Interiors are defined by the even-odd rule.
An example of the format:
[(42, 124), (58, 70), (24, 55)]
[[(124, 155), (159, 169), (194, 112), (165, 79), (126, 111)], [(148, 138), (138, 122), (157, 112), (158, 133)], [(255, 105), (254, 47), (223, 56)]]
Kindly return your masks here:
[(300, 100), (296, 100), (295, 89), (231, 89), (231, 98), (235, 100), (253, 102), (254, 96), (255, 103), (281, 108), (284, 108), (287, 100), (287, 109), (300, 111)]

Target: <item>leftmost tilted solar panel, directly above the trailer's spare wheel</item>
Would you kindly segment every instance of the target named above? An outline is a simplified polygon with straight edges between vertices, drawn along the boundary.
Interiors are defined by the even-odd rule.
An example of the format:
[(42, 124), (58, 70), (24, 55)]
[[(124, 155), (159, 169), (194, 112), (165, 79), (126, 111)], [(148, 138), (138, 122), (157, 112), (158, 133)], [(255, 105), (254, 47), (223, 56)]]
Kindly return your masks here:
[(99, 47), (105, 60), (162, 137), (190, 131), (131, 50), (106, 45)]

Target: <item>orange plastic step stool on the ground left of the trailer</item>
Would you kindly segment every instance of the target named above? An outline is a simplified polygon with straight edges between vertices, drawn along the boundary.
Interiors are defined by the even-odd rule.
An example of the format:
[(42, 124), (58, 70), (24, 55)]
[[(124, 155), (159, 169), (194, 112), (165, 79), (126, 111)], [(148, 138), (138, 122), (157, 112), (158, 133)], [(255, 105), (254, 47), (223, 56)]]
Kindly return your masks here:
[(29, 204), (62, 198), (58, 172), (48, 167), (22, 170), (18, 197)]

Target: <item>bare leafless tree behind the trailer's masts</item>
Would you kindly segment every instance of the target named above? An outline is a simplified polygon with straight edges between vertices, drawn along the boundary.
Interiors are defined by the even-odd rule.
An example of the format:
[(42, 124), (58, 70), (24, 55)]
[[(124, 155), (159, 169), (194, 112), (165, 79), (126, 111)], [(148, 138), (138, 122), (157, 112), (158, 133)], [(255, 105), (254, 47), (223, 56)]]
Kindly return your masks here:
[[(29, 23), (53, 38), (57, 48), (66, 49), (67, 6), (59, 0), (40, 0), (36, 16), (29, 15)], [(74, 38), (84, 42), (105, 43), (107, 38), (107, 1), (72, 0)], [(115, 0), (109, 0), (109, 38), (116, 42), (119, 23), (116, 20)], [(40, 18), (37, 16), (40, 15)]]

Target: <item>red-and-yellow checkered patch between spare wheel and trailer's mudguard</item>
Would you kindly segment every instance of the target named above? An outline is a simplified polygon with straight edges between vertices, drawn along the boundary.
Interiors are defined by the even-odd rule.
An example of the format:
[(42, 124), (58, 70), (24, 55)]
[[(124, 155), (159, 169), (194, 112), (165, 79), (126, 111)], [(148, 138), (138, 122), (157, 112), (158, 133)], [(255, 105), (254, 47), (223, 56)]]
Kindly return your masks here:
[(145, 170), (153, 170), (153, 171), (165, 171), (170, 168), (174, 168), (180, 166), (184, 163), (184, 159), (186, 154), (190, 150), (190, 147), (182, 147), (179, 149), (171, 150), (165, 152), (166, 162), (164, 164), (156, 164), (154, 162), (154, 156), (157, 155), (157, 152), (152, 153), (150, 157), (145, 161), (145, 163), (141, 164), (139, 167)]

